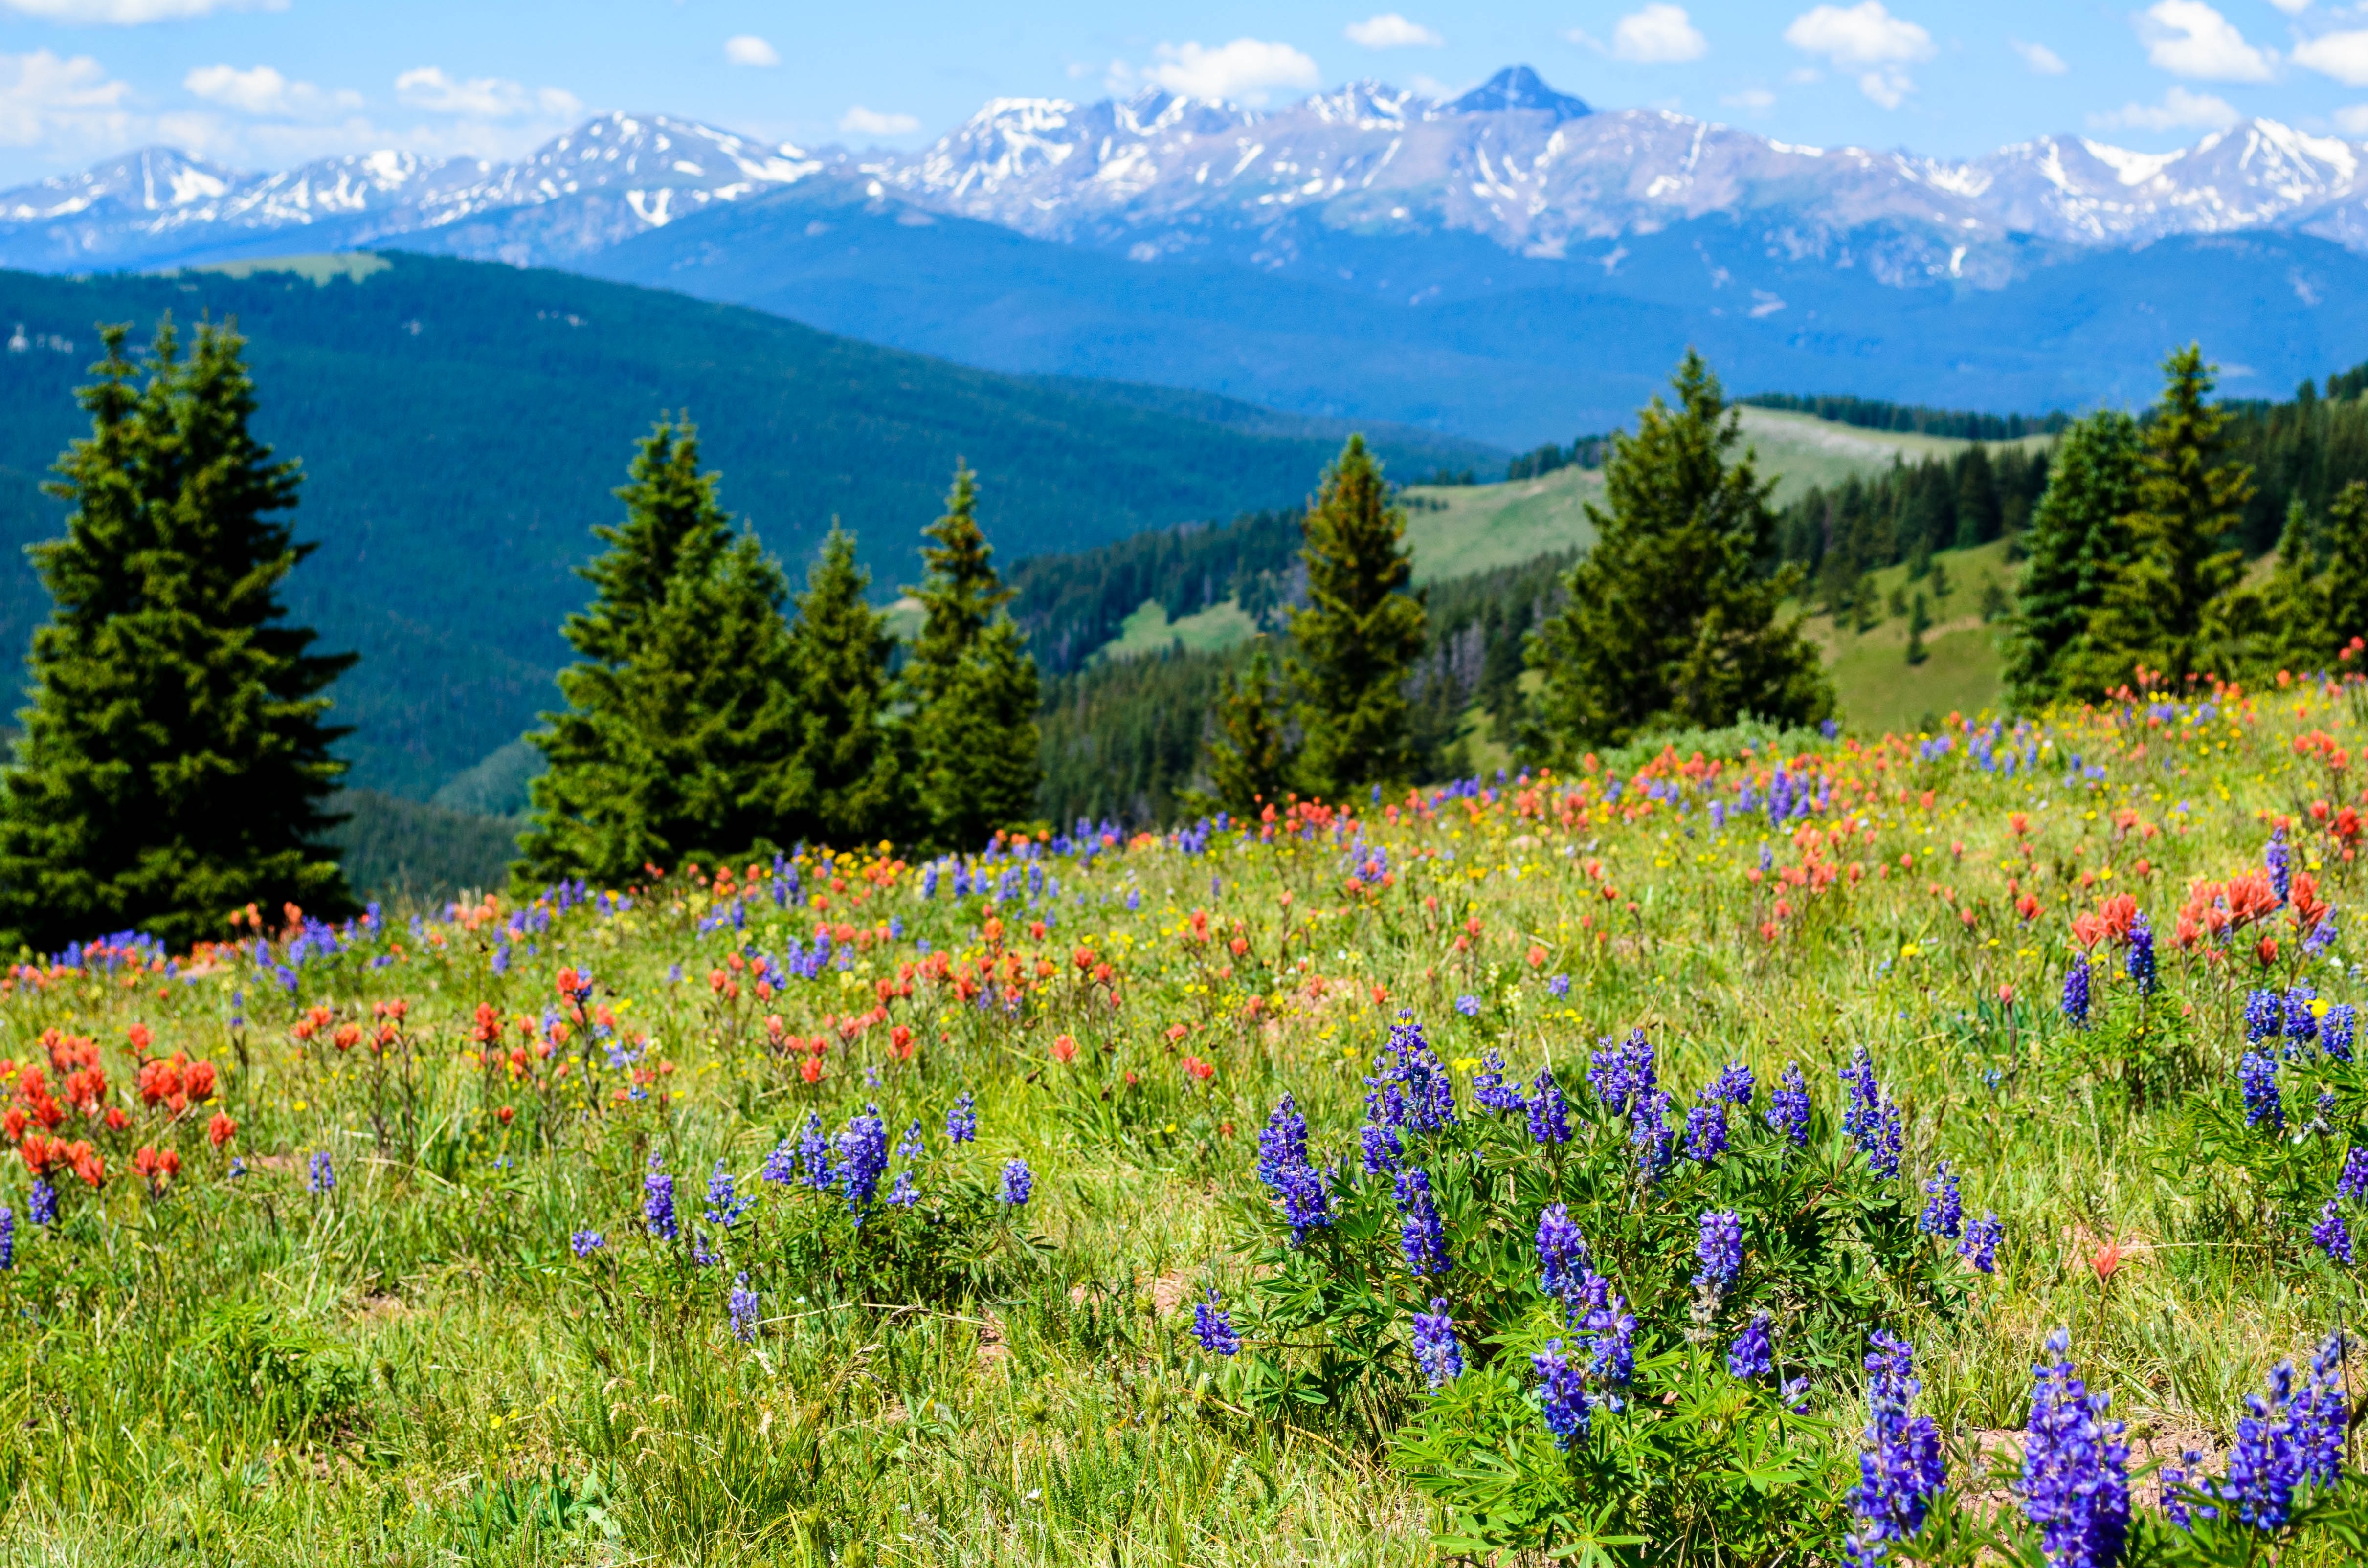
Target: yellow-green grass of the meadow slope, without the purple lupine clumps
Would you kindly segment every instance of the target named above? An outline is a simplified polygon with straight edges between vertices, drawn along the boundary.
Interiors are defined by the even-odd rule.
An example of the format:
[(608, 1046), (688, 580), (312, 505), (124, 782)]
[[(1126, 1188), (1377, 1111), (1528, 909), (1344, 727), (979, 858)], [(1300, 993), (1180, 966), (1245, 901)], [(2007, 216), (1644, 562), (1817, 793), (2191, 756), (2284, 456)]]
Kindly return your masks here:
[[(192, 1561), (258, 1568), (1437, 1561), (1423, 1540), (1433, 1509), (1364, 1424), (1388, 1428), (1426, 1405), (1402, 1317), (1371, 1362), (1388, 1402), (1288, 1405), (1281, 1419), (1238, 1414), (1243, 1367), (1212, 1362), (1189, 1331), (1191, 1300), (1217, 1286), (1250, 1355), (1272, 1355), (1260, 1341), (1274, 1336), (1250, 1319), (1253, 1225), (1267, 1208), (1253, 1135), (1291, 1092), (1314, 1156), (1347, 1158), (1340, 1180), (1352, 1182), (1364, 1075), (1397, 1007), (1456, 1063), (1466, 1108), (1482, 1047), (1499, 1047), (1525, 1080), (1549, 1059), (1584, 1059), (1598, 1035), (1643, 1028), (1679, 1106), (1740, 1059), (1759, 1092), (1733, 1123), (1738, 1151), (1764, 1137), (1769, 1085), (1797, 1061), (1823, 1118), (1809, 1158), (1852, 1172), (1857, 1158), (1833, 1132), (1835, 1073), (1866, 1049), (1902, 1108), (1897, 1191), (1909, 1213), (1946, 1158), (1965, 1184), (1965, 1217), (1996, 1210), (2006, 1229), (1994, 1277), (1965, 1272), (1946, 1244), (1913, 1244), (1935, 1255), (1944, 1303), (1875, 1291), (1883, 1322), (1916, 1343), (1918, 1409), (1951, 1438), (2020, 1440), (2039, 1341), (2070, 1324), (2081, 1374), (2153, 1440), (2141, 1461), (2183, 1442), (2226, 1452), (2242, 1393), (2349, 1312), (2349, 1277), (2304, 1239), (2344, 1137), (2247, 1144), (2233, 1087), (2250, 983), (2238, 964), (2205, 964), (2164, 940), (2153, 1016), (2157, 1028), (2171, 1021), (2181, 1066), (2162, 1068), (2164, 1090), (2145, 1101), (2119, 1090), (2119, 1059), (2098, 1045), (2119, 1035), (2065, 1030), (2053, 997), (2074, 910), (2129, 886), (2167, 928), (2188, 879), (2259, 867), (2254, 812), (2323, 789), (2325, 775), (2290, 748), (2311, 727), (2354, 753), (2368, 744), (2344, 701), (2297, 692), (2145, 734), (2143, 753), (2105, 722), (2067, 720), (2044, 737), (2051, 756), (2079, 751), (2105, 775), (2072, 796), (2053, 767), (2006, 777), (1963, 751), (1916, 763), (1902, 744), (1883, 748), (1875, 772), (1866, 753), (1823, 748), (1816, 767), (1838, 798), (1857, 801), (1835, 855), (1864, 862), (1866, 879), (1821, 895), (1745, 879), (1762, 838), (1795, 860), (1764, 820), (1717, 834), (1695, 810), (1691, 836), (1674, 836), (1665, 808), (1587, 812), (1570, 827), (1487, 803), (1452, 805), (1437, 822), (1369, 822), (1364, 838), (1399, 867), (1373, 907), (1340, 891), (1328, 841), (1220, 841), (1208, 855), (1146, 841), (1092, 862), (1054, 857), (1058, 907), (1016, 893), (1002, 912), (1011, 947), (1056, 959), (1066, 976), (1070, 947), (1089, 945), (1118, 964), (1125, 1007), (1063, 978), (1006, 1016), (924, 978), (888, 1004), (890, 1018), (916, 1026), (912, 1059), (890, 1052), (888, 1028), (843, 1037), (834, 1023), (850, 997), (869, 1002), (874, 981), (919, 962), (921, 943), (964, 964), (992, 957), (987, 910), (980, 898), (954, 902), (945, 886), (924, 900), (914, 872), (888, 872), (874, 891), (852, 862), (836, 867), (852, 893), (834, 919), (869, 933), (895, 914), (900, 936), (850, 950), (848, 976), (791, 981), (762, 1004), (715, 1002), (708, 971), (725, 973), (744, 943), (774, 955), (803, 945), (812, 912), (781, 914), (760, 895), (746, 931), (729, 919), (701, 931), (710, 900), (682, 876), (625, 917), (559, 914), (509, 945), (502, 973), (488, 955), (507, 907), (481, 926), (438, 919), (426, 938), (393, 919), (384, 940), (305, 962), (296, 995), (244, 950), (137, 988), (121, 976), (19, 978), (0, 992), (0, 1026), (21, 1042), (50, 1026), (95, 1035), (133, 1127), (95, 1132), (114, 1180), (102, 1191), (66, 1180), (62, 1225), (19, 1225), (14, 1270), (0, 1272), (0, 1310), (14, 1324), (0, 1336), (0, 1509), (19, 1542), (7, 1556), (111, 1568), (189, 1542)], [(1738, 748), (1736, 737), (1703, 744), (1729, 758)], [(1930, 808), (1897, 803), (1923, 789), (1937, 793)], [(1629, 791), (1632, 812), (1639, 796)], [(2183, 815), (2181, 798), (2198, 812)], [(2126, 841), (2115, 829), (2124, 808), (2141, 824)], [(2008, 812), (2029, 812), (2029, 860)], [(2321, 848), (2297, 843), (2297, 869), (2316, 869)], [(1890, 872), (1902, 855), (1920, 862), (1916, 876)], [(2153, 881), (2134, 874), (2138, 855)], [(1601, 933), (1610, 905), (1591, 862), (1629, 900), (1617, 940)], [(831, 874), (807, 865), (805, 886), (824, 891)], [(2008, 874), (2046, 902), (2036, 924), (2003, 910)], [(2096, 874), (2105, 881), (2084, 888)], [(1928, 881), (1954, 902), (1935, 900)], [(1759, 921), (1778, 895), (1807, 907), (1771, 947)], [(2349, 898), (2349, 881), (2335, 895)], [(1442, 917), (1426, 914), (1426, 898), (1447, 905)], [(1196, 907), (1215, 912), (1217, 936), (1241, 921), (1248, 957), (1191, 943)], [(1478, 931), (1468, 952), (1456, 945), (1466, 912)], [(1040, 919), (1056, 928), (1030, 936)], [(1570, 976), (1568, 997), (1534, 983), (1530, 943), (1549, 950), (1546, 973)], [(391, 962), (379, 969), (374, 957)], [(2363, 997), (2349, 957), (2340, 945), (2311, 966), (2325, 997)], [(651, 1075), (646, 1099), (611, 1099), (606, 1082), (594, 1097), (573, 1092), (587, 1068), (611, 1073), (583, 1030), (552, 1059), (521, 1049), (519, 1075), (476, 1063), (474, 1009), (535, 1030), (561, 964), (590, 966), (597, 1004), (646, 1030), (649, 1061), (675, 1068)], [(1385, 988), (1385, 1007), (1369, 1002), (1371, 988)], [(2013, 1014), (1996, 1011), (2001, 988), (2025, 997)], [(1456, 1011), (1459, 992), (1485, 995), (1480, 1016)], [(2117, 962), (2100, 964), (2098, 995), (2117, 1021), (2134, 1011)], [(372, 1002), (388, 997), (410, 1002), (414, 1052), (388, 1063), (393, 1078), (367, 1049), (294, 1037), (305, 1007), (334, 1004), (367, 1028)], [(765, 1047), (767, 1011), (800, 1037), (829, 1037), (819, 1082), (803, 1080), (798, 1056)], [(232, 1016), (244, 1018), (237, 1033)], [(168, 1127), (140, 1104), (123, 1045), (135, 1021), (159, 1047), (223, 1066), (218, 1106)], [(1215, 1063), (1205, 1080), (1182, 1071), (1165, 1033), (1177, 1023), (1191, 1030), (1186, 1049)], [(1056, 1035), (1075, 1037), (1073, 1063), (1056, 1061)], [(545, 1092), (538, 1082), (556, 1063), (575, 1073)], [(2325, 1071), (2309, 1056), (2285, 1071), (2297, 1123)], [(419, 1094), (417, 1156), (405, 1082)], [(1565, 1082), (1582, 1137), (1624, 1158), (1624, 1127), (1589, 1132), (1601, 1111), (1575, 1071)], [(964, 1090), (978, 1094), (978, 1142), (950, 1146), (942, 1116)], [(1025, 1158), (1035, 1196), (1021, 1229), (1044, 1251), (987, 1232), (1004, 1251), (976, 1289), (874, 1286), (841, 1272), (860, 1255), (921, 1260), (950, 1246), (935, 1239), (938, 1220), (907, 1225), (886, 1210), (850, 1236), (836, 1194), (755, 1177), (807, 1111), (836, 1130), (864, 1104), (879, 1104), (890, 1139), (921, 1120), (931, 1194), (992, 1189), (1004, 1161)], [(2214, 1153), (2198, 1153), (2190, 1104), (2235, 1127)], [(514, 1123), (497, 1118), (504, 1106)], [(239, 1120), (227, 1151), (206, 1146), (213, 1108)], [(374, 1108), (388, 1111), (384, 1153)], [(64, 1132), (83, 1127), (76, 1113)], [(182, 1151), (182, 1175), (156, 1199), (123, 1172), (135, 1142)], [(227, 1172), (230, 1153), (246, 1175)], [(313, 1156), (334, 1161), (329, 1191), (308, 1191)], [(675, 1172), (682, 1246), (642, 1232), (651, 1156)], [(2297, 1194), (2240, 1168), (2269, 1158), (2285, 1161)], [(720, 1270), (687, 1255), (718, 1163), (755, 1201), (718, 1241), (729, 1255)], [(1669, 1191), (1620, 1199), (1650, 1217), (1629, 1229), (1613, 1220), (1617, 1241), (1598, 1253), (1669, 1348), (1686, 1326), (1693, 1215), (1710, 1180), (1681, 1161)], [(1551, 1194), (1530, 1182), (1544, 1177), (1506, 1182), (1527, 1206), (1492, 1210), (1485, 1239), (1456, 1234), (1459, 1258), (1506, 1251), (1508, 1277), (1534, 1277), (1525, 1248)], [(1729, 1201), (1752, 1227), (1745, 1279), (1757, 1291), (1759, 1270), (1774, 1267), (1762, 1225), (1778, 1220), (1759, 1215), (1755, 1191)], [(0, 1201), (24, 1213), (19, 1161), (0, 1168)], [(571, 1255), (575, 1229), (601, 1232), (606, 1246)], [(800, 1251), (796, 1236), (819, 1241)], [(1639, 1236), (1667, 1239), (1679, 1262), (1639, 1274)], [(2105, 1236), (2124, 1248), (2110, 1289), (2086, 1265)], [(1395, 1258), (1395, 1232), (1371, 1246)], [(739, 1272), (762, 1315), (746, 1345), (725, 1326)], [(1371, 1279), (1409, 1296), (1395, 1265)], [(1459, 1262), (1444, 1286), (1459, 1315), (1463, 1279)], [(1788, 1334), (1804, 1303), (1767, 1300)], [(1527, 1350), (1516, 1345), (1511, 1364)], [(1804, 1367), (1819, 1421), (1790, 1435), (1790, 1457), (1835, 1454), (1845, 1478), (1857, 1476), (1849, 1454), (1864, 1424), (1857, 1350), (1828, 1345)], [(1286, 1355), (1302, 1364), (1300, 1350)], [(1726, 1388), (1724, 1371), (1705, 1376)], [(1537, 1431), (1518, 1390), (1504, 1407), (1513, 1431)], [(1544, 1440), (1537, 1450), (1549, 1452)], [(2131, 1492), (2141, 1511), (2155, 1506), (2153, 1485)], [(1939, 1506), (1999, 1497), (1984, 1502), (1984, 1485), (1961, 1473)], [(1793, 1492), (1781, 1502), (1795, 1518), (1830, 1506)], [(2347, 1559), (2328, 1547), (2280, 1561)]]

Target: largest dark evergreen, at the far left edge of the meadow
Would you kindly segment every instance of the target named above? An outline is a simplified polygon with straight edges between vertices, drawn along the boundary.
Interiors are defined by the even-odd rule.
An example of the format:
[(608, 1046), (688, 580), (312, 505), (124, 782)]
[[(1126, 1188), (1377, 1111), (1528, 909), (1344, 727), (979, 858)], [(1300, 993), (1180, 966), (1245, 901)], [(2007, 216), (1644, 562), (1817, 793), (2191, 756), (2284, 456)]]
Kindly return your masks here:
[(0, 940), (185, 945), (249, 902), (350, 914), (320, 838), (346, 772), (327, 689), (353, 656), (313, 654), (279, 602), (313, 552), (284, 516), (298, 464), (249, 431), (234, 327), (199, 324), (182, 360), (166, 320), (144, 367), (126, 336), (99, 332), (90, 436), (45, 486), (73, 502), (66, 535), (31, 550), (54, 606), (0, 798)]

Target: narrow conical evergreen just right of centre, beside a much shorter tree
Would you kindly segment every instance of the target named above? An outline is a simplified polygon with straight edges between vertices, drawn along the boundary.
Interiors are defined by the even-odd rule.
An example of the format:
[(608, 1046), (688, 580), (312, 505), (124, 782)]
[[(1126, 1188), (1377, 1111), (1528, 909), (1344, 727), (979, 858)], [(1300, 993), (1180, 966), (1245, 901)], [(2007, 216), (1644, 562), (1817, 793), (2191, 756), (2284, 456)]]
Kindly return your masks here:
[(1350, 436), (1307, 509), (1307, 609), (1291, 616), (1300, 658), (1300, 784), (1343, 801), (1414, 777), (1407, 675), (1423, 654), (1423, 602), (1407, 592), (1407, 514), (1390, 505), (1364, 436)]

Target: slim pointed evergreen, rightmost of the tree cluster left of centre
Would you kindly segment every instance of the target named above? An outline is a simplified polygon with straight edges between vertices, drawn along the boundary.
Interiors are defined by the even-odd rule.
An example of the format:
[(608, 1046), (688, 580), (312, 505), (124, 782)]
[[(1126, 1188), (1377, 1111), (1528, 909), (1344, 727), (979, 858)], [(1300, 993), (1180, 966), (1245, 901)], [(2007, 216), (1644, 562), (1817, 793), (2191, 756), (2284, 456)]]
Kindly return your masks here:
[(940, 848), (978, 848), (1035, 815), (1044, 777), (1037, 668), (1004, 604), (995, 550), (978, 526), (978, 476), (954, 469), (945, 516), (921, 531), (921, 637), (905, 663), (919, 822)]

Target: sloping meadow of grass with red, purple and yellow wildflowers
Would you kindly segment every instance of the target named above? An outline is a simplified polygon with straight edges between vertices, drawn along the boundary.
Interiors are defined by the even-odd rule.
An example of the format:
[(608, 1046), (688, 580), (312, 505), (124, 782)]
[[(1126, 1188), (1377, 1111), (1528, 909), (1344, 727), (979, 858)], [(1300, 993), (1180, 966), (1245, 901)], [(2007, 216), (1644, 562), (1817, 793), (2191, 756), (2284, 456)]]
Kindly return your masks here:
[(2359, 1561), (2363, 746), (2183, 682), (26, 955), (0, 1556)]

